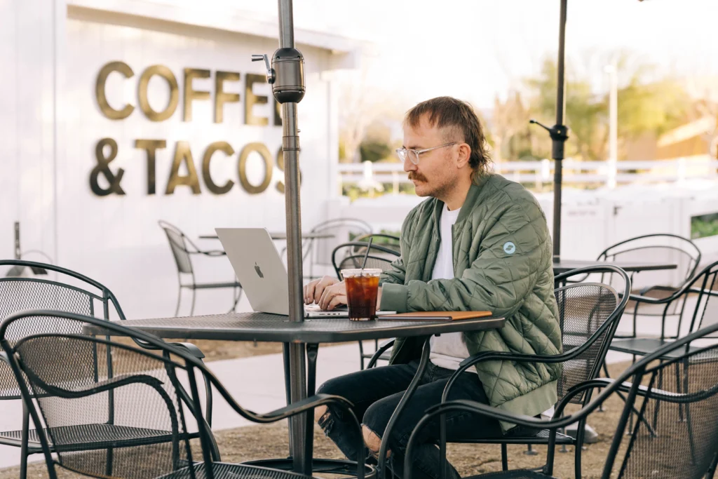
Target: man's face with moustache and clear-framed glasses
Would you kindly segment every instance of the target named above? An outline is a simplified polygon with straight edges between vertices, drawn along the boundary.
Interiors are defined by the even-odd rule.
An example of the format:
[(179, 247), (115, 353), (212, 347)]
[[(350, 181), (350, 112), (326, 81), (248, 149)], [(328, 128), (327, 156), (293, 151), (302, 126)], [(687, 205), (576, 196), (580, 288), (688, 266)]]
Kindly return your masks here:
[[(404, 147), (406, 149), (427, 149), (449, 143), (443, 132), (429, 124), (426, 116), (412, 128), (404, 125)], [(404, 171), (409, 173), (409, 180), (414, 182), (416, 195), (432, 196), (441, 199), (450, 190), (457, 177), (454, 147), (437, 148), (419, 155), (419, 164), (412, 163), (408, 158), (404, 161)]]

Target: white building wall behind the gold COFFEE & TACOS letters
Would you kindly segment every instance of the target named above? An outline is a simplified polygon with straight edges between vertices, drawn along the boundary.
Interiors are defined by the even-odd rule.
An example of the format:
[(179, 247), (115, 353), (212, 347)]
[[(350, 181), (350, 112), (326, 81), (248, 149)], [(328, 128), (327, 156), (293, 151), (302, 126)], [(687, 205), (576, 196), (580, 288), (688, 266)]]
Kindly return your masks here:
[[(163, 11), (172, 9), (161, 6)], [(277, 190), (284, 174), (276, 164), (282, 133), (281, 126), (274, 126), (269, 85), (253, 87), (254, 94), (269, 97), (266, 105), (253, 108), (255, 116), (269, 118), (268, 125), (245, 124), (244, 112), (246, 74), (264, 75), (264, 64), (251, 62), (251, 55), (271, 55), (276, 50), (276, 29), (259, 37), (131, 13), (72, 5), (68, 9), (64, 1), (52, 0), (0, 4), (0, 88), (4, 93), (0, 96), (0, 134), (5, 147), (0, 157), (0, 257), (13, 256), (12, 225), (19, 220), (23, 251), (42, 251), (55, 264), (106, 284), (128, 317), (164, 316), (174, 313), (177, 278), (157, 220), (177, 225), (200, 247), (210, 249), (220, 247), (218, 241), (197, 240), (197, 236), (212, 234), (215, 227), (264, 226), (284, 231), (284, 195)], [(327, 139), (337, 131), (337, 111), (330, 108), (336, 100), (325, 72), (337, 60), (329, 50), (298, 47), (305, 59), (307, 84), (298, 111), (302, 222), (308, 229), (325, 219), (333, 178), (328, 165), (337, 161), (336, 140)], [(125, 62), (134, 71), (129, 79), (111, 73), (106, 83), (113, 108), (125, 103), (135, 107), (121, 120), (106, 118), (95, 98), (98, 72), (112, 61)], [(150, 65), (169, 68), (179, 85), (177, 110), (164, 121), (150, 121), (138, 105), (139, 78)], [(211, 78), (193, 82), (195, 90), (210, 91), (210, 99), (192, 102), (192, 121), (182, 118), (185, 68), (211, 72)], [(241, 75), (239, 81), (224, 83), (225, 91), (239, 93), (241, 98), (239, 103), (225, 103), (220, 124), (214, 122), (217, 70)], [(162, 111), (169, 98), (167, 84), (154, 77), (148, 91), (152, 108)], [(118, 152), (109, 166), (114, 174), (124, 170), (125, 195), (100, 197), (90, 190), (90, 172), (97, 164), (95, 146), (104, 138), (116, 141)], [(167, 143), (157, 150), (154, 195), (147, 192), (146, 152), (134, 147), (136, 139)], [(178, 141), (190, 145), (199, 195), (185, 185), (177, 186), (172, 195), (164, 194)], [(211, 162), (215, 183), (235, 183), (224, 195), (210, 192), (202, 180), (202, 156), (214, 141), (228, 142), (235, 152), (231, 157), (216, 152)], [(269, 149), (273, 164), (271, 183), (258, 194), (244, 190), (238, 175), (239, 154), (253, 142)], [(180, 175), (186, 174), (182, 167)], [(264, 174), (261, 158), (251, 154), (248, 180), (258, 185)], [(99, 183), (108, 186), (103, 175)], [(39, 254), (24, 258), (43, 261)], [(197, 263), (198, 282), (233, 280), (226, 259), (200, 258)], [(195, 313), (223, 312), (231, 302), (230, 290), (200, 291)]]

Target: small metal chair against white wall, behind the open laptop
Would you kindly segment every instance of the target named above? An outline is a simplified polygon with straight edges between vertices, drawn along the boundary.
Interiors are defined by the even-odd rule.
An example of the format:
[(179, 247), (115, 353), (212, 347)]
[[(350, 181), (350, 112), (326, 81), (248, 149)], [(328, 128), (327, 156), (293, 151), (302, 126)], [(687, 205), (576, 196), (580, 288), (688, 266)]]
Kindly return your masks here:
[[(182, 289), (189, 289), (192, 292), (192, 306), (190, 306), (190, 316), (195, 312), (195, 297), (197, 296), (197, 289), (227, 289), (232, 288), (234, 290), (234, 304), (230, 311), (233, 311), (237, 307), (237, 303), (242, 296), (242, 285), (238, 281), (224, 282), (224, 283), (197, 283), (195, 278), (195, 269), (192, 267), (192, 255), (202, 255), (209, 258), (216, 258), (218, 256), (226, 256), (224, 251), (220, 250), (201, 250), (197, 248), (195, 243), (192, 243), (190, 238), (187, 238), (185, 233), (182, 233), (179, 228), (174, 225), (167, 223), (167, 221), (158, 221), (159, 227), (162, 228), (164, 233), (167, 235), (167, 241), (169, 241), (169, 248), (172, 249), (172, 256), (174, 256), (174, 263), (177, 265), (177, 283), (180, 285), (179, 292), (177, 293), (177, 309), (174, 310), (174, 315), (180, 314), (180, 304), (182, 303)], [(190, 282), (182, 282), (182, 277), (189, 276)]]

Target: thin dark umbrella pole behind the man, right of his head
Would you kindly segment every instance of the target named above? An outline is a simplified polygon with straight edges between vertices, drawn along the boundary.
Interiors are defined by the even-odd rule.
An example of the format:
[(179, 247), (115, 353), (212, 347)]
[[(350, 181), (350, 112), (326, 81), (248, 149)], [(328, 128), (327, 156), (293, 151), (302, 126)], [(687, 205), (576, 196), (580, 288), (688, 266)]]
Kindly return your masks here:
[(566, 6), (568, 0), (561, 0), (561, 17), (559, 20), (559, 61), (556, 65), (556, 124), (549, 128), (546, 125), (531, 120), (549, 132), (551, 136), (551, 157), (554, 159), (554, 262), (561, 257), (561, 182), (563, 182), (564, 147), (569, 139), (569, 128), (564, 125), (566, 113), (566, 99), (564, 98), (564, 45), (566, 38)]

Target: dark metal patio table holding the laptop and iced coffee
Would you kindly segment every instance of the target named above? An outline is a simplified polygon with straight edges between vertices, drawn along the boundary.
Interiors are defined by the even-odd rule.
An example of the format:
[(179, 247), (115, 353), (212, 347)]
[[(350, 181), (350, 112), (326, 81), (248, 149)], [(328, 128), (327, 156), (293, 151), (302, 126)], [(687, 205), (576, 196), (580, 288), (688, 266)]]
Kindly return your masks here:
[[(307, 390), (302, 391), (301, 399), (314, 394), (316, 387), (317, 353), (320, 343), (342, 343), (358, 340), (373, 340), (385, 338), (407, 338), (411, 336), (424, 336), (424, 350), (421, 355), (419, 369), (414, 380), (406, 389), (404, 397), (396, 407), (386, 427), (384, 437), (388, 437), (396, 418), (401, 414), (404, 405), (419, 386), (419, 379), (429, 362), (429, 338), (449, 332), (465, 332), (476, 330), (490, 330), (503, 327), (503, 318), (482, 317), (470, 320), (454, 321), (350, 321), (346, 318), (306, 319), (303, 322), (291, 321), (284, 315), (271, 315), (263, 312), (239, 312), (222, 315), (206, 315), (192, 317), (168, 317), (146, 320), (125, 320), (122, 325), (136, 330), (149, 332), (159, 338), (189, 338), (205, 340), (230, 341), (263, 341), (271, 343), (284, 343), (284, 375), (287, 390), (289, 378), (292, 374), (307, 378)], [(92, 335), (105, 335), (106, 330), (101, 327), (85, 326), (84, 332)], [(287, 344), (306, 345), (307, 371), (294, 371), (301, 363), (289, 361)], [(289, 398), (288, 398), (289, 399)], [(295, 401), (296, 402), (296, 401)], [(290, 438), (301, 438), (290, 442), (290, 455), (301, 455), (305, 465), (302, 472), (312, 474), (312, 457), (314, 450), (314, 417), (308, 411), (302, 426), (301, 434), (290, 433)], [(297, 423), (298, 424), (298, 423)], [(292, 427), (289, 422), (289, 427)], [(382, 441), (382, 448), (386, 452), (386, 444)], [(381, 455), (380, 457), (385, 457)], [(286, 460), (278, 460), (281, 462)], [(261, 462), (261, 461), (260, 461)], [(266, 461), (265, 461), (266, 462)], [(383, 460), (381, 460), (383, 462)], [(380, 462), (380, 463), (381, 463)]]

